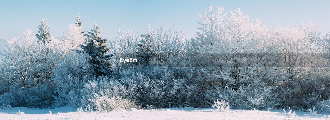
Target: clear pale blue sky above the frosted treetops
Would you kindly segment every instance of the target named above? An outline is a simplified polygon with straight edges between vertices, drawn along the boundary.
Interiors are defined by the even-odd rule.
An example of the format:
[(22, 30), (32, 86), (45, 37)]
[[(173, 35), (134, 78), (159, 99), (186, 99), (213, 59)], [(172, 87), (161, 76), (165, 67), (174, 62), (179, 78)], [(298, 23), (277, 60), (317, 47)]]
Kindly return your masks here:
[(225, 12), (240, 7), (250, 19), (261, 19), (267, 27), (274, 25), (298, 25), (306, 19), (313, 19), (320, 30), (325, 33), (330, 29), (330, 1), (302, 0), (123, 0), (123, 1), (0, 1), (0, 36), (5, 39), (20, 37), (22, 29), (38, 31), (39, 21), (48, 20), (50, 32), (54, 37), (62, 36), (67, 25), (75, 23), (77, 13), (82, 15), (82, 28), (89, 30), (96, 22), (104, 37), (116, 37), (117, 26), (122, 30), (132, 29), (139, 35), (151, 28), (161, 25), (165, 29), (174, 24), (185, 33), (186, 38), (194, 35), (198, 25), (199, 14), (207, 12), (209, 5), (219, 5)]

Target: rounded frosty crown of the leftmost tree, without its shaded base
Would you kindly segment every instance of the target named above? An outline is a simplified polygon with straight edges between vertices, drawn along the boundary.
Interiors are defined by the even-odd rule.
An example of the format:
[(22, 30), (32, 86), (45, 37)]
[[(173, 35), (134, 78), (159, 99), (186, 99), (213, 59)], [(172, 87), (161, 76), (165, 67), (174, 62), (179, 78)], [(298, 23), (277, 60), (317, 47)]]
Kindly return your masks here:
[[(34, 86), (50, 80), (54, 66), (61, 58), (61, 50), (50, 43), (38, 44), (38, 39), (27, 29), (21, 38), (6, 47), (4, 66), (8, 71), (6, 78), (22, 87)], [(48, 51), (48, 53), (45, 53)]]

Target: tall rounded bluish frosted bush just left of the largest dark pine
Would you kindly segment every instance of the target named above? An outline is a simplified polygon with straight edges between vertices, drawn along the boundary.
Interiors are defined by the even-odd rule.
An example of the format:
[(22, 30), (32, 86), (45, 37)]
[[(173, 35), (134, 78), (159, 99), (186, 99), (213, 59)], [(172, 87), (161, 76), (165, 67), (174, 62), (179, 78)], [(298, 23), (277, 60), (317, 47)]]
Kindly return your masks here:
[(72, 51), (58, 62), (52, 80), (56, 83), (54, 106), (78, 107), (80, 89), (93, 76), (89, 56)]

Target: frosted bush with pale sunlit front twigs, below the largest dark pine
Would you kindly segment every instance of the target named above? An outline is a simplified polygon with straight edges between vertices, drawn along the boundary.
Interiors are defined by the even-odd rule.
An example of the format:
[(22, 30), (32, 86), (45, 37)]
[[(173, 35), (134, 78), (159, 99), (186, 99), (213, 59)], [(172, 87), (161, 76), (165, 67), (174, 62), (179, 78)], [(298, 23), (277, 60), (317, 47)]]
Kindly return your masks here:
[(111, 78), (94, 78), (82, 88), (84, 95), (82, 107), (90, 107), (94, 111), (111, 111), (128, 108), (140, 108), (135, 104), (136, 86), (124, 86)]

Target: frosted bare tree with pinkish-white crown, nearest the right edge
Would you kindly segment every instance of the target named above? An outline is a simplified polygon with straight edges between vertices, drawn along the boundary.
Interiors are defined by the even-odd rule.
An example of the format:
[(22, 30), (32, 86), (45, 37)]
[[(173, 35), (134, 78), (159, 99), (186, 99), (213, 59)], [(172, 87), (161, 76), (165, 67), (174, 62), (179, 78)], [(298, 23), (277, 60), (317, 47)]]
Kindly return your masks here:
[(306, 108), (301, 101), (304, 96), (313, 91), (326, 93), (322, 87), (314, 87), (324, 86), (325, 82), (319, 82), (319, 80), (327, 81), (323, 77), (328, 76), (325, 74), (326, 72), (322, 72), (327, 68), (313, 67), (314, 65), (325, 65), (325, 60), (320, 54), (317, 54), (323, 51), (320, 31), (311, 20), (301, 22), (299, 26), (274, 27), (272, 31), (276, 31), (277, 36), (274, 39), (276, 39), (282, 55), (281, 70), (284, 72), (284, 77), (279, 86), (281, 103), (283, 106), (292, 105)]

